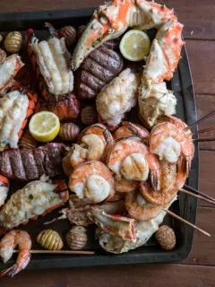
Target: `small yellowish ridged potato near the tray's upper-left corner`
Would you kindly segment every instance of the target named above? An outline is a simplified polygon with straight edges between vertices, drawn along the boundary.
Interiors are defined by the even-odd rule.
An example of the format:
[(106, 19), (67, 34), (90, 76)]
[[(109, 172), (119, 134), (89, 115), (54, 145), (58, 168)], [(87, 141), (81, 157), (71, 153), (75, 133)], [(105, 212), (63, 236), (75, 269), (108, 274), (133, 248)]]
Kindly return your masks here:
[(4, 48), (9, 53), (18, 53), (22, 48), (22, 34), (19, 31), (9, 32), (4, 39)]

